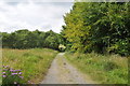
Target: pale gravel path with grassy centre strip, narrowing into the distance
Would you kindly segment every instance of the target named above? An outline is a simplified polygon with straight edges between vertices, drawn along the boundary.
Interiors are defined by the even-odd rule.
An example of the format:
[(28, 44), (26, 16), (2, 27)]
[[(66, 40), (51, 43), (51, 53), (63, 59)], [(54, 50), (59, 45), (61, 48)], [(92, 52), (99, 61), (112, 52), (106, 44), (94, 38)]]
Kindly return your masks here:
[(64, 53), (57, 54), (41, 84), (94, 84), (67, 62)]

